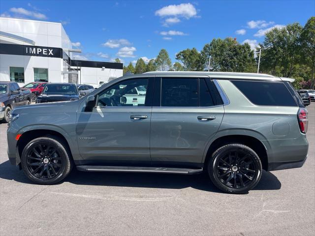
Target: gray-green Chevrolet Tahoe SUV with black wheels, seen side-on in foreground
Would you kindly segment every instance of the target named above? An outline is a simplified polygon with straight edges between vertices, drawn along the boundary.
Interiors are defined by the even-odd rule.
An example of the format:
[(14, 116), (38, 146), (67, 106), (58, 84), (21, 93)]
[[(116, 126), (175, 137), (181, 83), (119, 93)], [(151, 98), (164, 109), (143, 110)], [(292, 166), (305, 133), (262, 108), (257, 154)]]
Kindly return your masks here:
[(222, 191), (246, 193), (262, 170), (306, 160), (307, 110), (292, 81), (224, 72), (127, 75), (77, 101), (14, 109), (8, 156), (38, 184), (57, 183), (76, 166), (205, 172)]

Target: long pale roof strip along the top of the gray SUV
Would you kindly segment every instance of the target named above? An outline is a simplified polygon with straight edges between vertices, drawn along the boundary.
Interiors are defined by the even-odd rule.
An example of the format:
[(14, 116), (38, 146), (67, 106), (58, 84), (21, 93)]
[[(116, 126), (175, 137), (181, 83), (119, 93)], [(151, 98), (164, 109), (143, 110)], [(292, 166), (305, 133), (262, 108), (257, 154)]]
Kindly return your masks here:
[(208, 71), (152, 71), (144, 74), (158, 76), (210, 76), (212, 78), (226, 79), (248, 79), (248, 80), (273, 80), (281, 81), (279, 77), (267, 74), (238, 73), (238, 72), (208, 72)]

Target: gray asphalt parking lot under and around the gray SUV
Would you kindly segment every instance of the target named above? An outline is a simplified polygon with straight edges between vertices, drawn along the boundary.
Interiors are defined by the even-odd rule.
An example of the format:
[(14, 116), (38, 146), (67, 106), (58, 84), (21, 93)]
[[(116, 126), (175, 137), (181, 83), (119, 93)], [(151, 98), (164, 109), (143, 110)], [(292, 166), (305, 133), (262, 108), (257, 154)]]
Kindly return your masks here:
[(0, 235), (315, 234), (315, 102), (302, 168), (264, 172), (246, 195), (218, 191), (203, 175), (73, 171), (32, 184), (11, 166), (0, 124)]

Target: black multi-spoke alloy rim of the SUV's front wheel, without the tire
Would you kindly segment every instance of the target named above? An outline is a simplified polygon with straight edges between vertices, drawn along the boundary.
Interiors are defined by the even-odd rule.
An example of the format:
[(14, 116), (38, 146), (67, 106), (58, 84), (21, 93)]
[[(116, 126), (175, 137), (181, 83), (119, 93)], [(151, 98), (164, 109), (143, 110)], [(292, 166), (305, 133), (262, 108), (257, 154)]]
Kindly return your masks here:
[(40, 143), (29, 149), (26, 165), (33, 177), (47, 180), (60, 174), (62, 159), (56, 148), (48, 143)]

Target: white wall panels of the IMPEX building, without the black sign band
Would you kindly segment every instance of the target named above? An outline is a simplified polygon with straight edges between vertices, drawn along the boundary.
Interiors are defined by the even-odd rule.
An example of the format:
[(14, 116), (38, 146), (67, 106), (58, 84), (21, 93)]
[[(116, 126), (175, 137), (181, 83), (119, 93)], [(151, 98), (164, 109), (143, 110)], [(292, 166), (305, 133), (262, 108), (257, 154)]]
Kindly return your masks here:
[[(72, 49), (72, 43), (61, 23), (43, 22), (26, 19), (0, 18), (0, 31), (19, 35), (35, 42), (35, 46)], [(27, 43), (20, 42), (26, 45)], [(71, 58), (72, 53), (68, 53)], [(69, 55), (70, 54), (70, 55)], [(48, 68), (49, 82), (68, 82), (67, 70), (63, 59), (20, 55), (0, 55), (0, 81), (9, 81), (9, 67), (24, 67), (25, 84), (34, 81), (34, 68)], [(76, 68), (76, 67), (73, 67)], [(123, 70), (82, 67), (79, 83), (98, 85), (99, 81), (108, 81), (123, 75)], [(80, 81), (81, 78), (81, 81)], [(20, 84), (23, 86), (24, 84)]]

